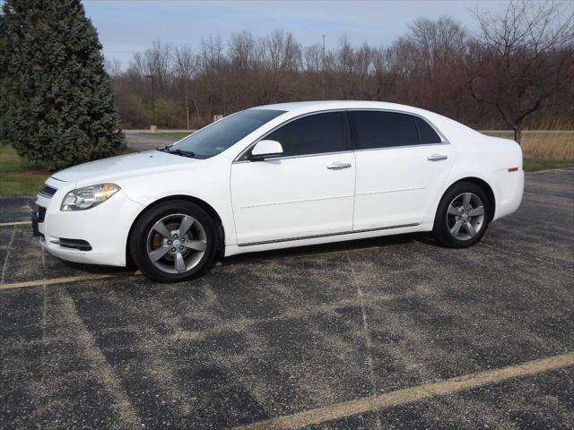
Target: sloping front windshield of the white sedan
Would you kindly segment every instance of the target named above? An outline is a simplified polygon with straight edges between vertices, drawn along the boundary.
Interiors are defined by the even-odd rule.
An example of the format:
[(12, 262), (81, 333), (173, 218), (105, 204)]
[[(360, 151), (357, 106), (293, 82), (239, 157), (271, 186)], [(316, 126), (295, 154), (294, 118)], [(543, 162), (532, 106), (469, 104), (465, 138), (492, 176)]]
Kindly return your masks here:
[(208, 159), (227, 150), (261, 125), (285, 113), (283, 110), (248, 109), (226, 116), (208, 127), (187, 136), (169, 150), (192, 153), (197, 159)]

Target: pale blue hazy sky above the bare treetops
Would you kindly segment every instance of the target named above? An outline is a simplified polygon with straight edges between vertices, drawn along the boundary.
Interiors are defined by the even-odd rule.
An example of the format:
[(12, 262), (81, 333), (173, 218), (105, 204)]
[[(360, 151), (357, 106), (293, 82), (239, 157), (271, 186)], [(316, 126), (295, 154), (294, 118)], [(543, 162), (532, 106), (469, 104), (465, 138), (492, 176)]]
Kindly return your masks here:
[(500, 1), (97, 1), (83, 2), (100, 33), (106, 58), (126, 67), (132, 53), (151, 40), (197, 46), (202, 38), (250, 30), (262, 36), (291, 31), (303, 45), (335, 47), (345, 34), (354, 45), (384, 45), (404, 34), (418, 17), (449, 15), (474, 28), (473, 11), (495, 11)]

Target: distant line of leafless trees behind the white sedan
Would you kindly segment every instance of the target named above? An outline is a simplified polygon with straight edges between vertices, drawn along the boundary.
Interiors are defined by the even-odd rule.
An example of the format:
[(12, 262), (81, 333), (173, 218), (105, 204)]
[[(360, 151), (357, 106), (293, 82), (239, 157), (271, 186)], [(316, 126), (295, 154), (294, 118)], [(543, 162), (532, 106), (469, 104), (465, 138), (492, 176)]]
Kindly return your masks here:
[[(570, 13), (570, 15), (569, 15)], [(199, 47), (159, 39), (125, 71), (108, 62), (125, 128), (197, 128), (213, 115), (309, 99), (386, 100), (430, 109), (478, 128), (574, 128), (574, 39), (561, 3), (510, 3), (476, 13), (477, 34), (451, 18), (418, 19), (387, 47), (304, 47), (291, 32), (248, 30)]]

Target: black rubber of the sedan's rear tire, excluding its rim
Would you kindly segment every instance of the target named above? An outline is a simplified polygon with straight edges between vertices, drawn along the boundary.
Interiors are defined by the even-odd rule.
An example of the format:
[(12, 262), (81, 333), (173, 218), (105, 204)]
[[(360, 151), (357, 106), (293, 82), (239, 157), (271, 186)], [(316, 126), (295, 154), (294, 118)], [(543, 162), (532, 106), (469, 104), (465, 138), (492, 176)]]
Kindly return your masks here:
[[(447, 224), (447, 211), (450, 202), (452, 202), (457, 195), (462, 193), (474, 193), (476, 194), (482, 201), (484, 206), (484, 221), (483, 221), (483, 228), (480, 229), (478, 234), (471, 239), (467, 240), (460, 240), (457, 237), (452, 236), (450, 230), (448, 229)], [(455, 185), (452, 185), (448, 190), (443, 194), (442, 198), (439, 202), (439, 207), (437, 209), (437, 213), (434, 219), (434, 227), (432, 232), (435, 236), (435, 239), (439, 242), (440, 245), (447, 246), (449, 248), (466, 248), (468, 246), (472, 246), (479, 242), (486, 232), (486, 228), (491, 221), (491, 202), (488, 198), (488, 195), (484, 192), (483, 188), (480, 186), (473, 184), (471, 182), (459, 182)]]

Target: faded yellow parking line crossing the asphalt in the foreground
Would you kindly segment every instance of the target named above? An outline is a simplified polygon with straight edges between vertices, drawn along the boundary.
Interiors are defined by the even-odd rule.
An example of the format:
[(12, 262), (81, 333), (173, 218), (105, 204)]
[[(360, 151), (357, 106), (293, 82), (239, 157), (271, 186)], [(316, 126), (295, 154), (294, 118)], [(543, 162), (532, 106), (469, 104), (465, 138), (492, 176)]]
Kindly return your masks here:
[(327, 421), (334, 421), (373, 410), (390, 408), (413, 401), (430, 399), (436, 396), (445, 396), (458, 391), (470, 390), (494, 383), (501, 383), (509, 379), (541, 374), (574, 366), (574, 353), (547, 357), (528, 361), (515, 366), (501, 369), (487, 370), (475, 374), (465, 374), (438, 383), (424, 383), (404, 390), (390, 391), (358, 400), (350, 400), (324, 408), (310, 409), (292, 415), (276, 417), (259, 421), (247, 426), (235, 427), (237, 430), (261, 429), (294, 429), (304, 426), (318, 425)]

